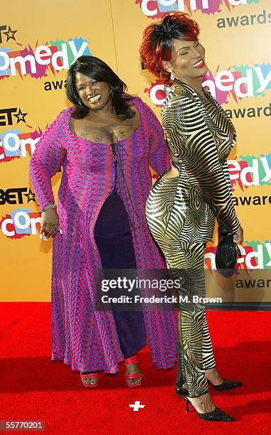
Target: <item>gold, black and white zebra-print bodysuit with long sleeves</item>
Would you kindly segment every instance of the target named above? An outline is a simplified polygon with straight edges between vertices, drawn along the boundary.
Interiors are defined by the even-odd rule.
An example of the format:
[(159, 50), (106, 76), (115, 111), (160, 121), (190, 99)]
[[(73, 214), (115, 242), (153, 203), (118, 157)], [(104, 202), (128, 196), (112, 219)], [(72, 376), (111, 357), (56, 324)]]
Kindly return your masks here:
[(209, 91), (204, 95), (178, 80), (170, 88), (162, 122), (179, 176), (161, 174), (146, 204), (150, 231), (178, 282), (176, 386), (186, 384), (189, 397), (208, 392), (205, 371), (215, 367), (204, 304), (194, 299), (205, 295), (206, 242), (214, 235), (216, 215), (233, 232), (240, 227), (226, 162), (236, 131)]

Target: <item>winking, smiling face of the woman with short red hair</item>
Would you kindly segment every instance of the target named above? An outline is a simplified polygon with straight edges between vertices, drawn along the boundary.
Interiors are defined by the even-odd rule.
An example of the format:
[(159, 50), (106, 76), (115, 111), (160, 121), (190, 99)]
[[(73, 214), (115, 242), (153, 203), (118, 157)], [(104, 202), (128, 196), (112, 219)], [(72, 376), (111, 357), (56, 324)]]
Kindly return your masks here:
[(170, 60), (163, 60), (165, 70), (172, 70), (177, 79), (184, 82), (205, 75), (208, 68), (205, 65), (205, 49), (199, 41), (182, 41), (172, 38)]

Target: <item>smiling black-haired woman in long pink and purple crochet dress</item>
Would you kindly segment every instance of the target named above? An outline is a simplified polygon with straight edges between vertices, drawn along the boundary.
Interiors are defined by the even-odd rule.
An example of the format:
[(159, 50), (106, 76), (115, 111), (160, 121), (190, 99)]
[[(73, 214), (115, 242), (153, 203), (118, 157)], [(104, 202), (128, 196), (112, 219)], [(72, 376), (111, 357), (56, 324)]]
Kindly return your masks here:
[[(96, 311), (96, 269), (165, 269), (150, 236), (145, 203), (151, 166), (170, 168), (162, 127), (106, 63), (82, 56), (71, 66), (62, 110), (31, 158), (33, 188), (43, 210), (41, 237), (53, 237), (52, 360), (80, 370), (95, 387), (99, 370), (140, 385), (136, 353), (148, 339), (156, 367), (175, 364), (173, 311)], [(51, 177), (60, 171), (57, 206)]]

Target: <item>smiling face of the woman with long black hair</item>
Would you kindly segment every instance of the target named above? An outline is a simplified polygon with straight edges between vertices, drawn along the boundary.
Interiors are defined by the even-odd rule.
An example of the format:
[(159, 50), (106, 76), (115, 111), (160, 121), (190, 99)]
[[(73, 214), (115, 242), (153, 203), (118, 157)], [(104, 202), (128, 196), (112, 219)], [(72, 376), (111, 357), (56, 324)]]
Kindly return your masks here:
[(87, 75), (76, 73), (75, 86), (84, 105), (92, 111), (104, 109), (107, 104), (111, 104), (108, 83), (97, 82)]

